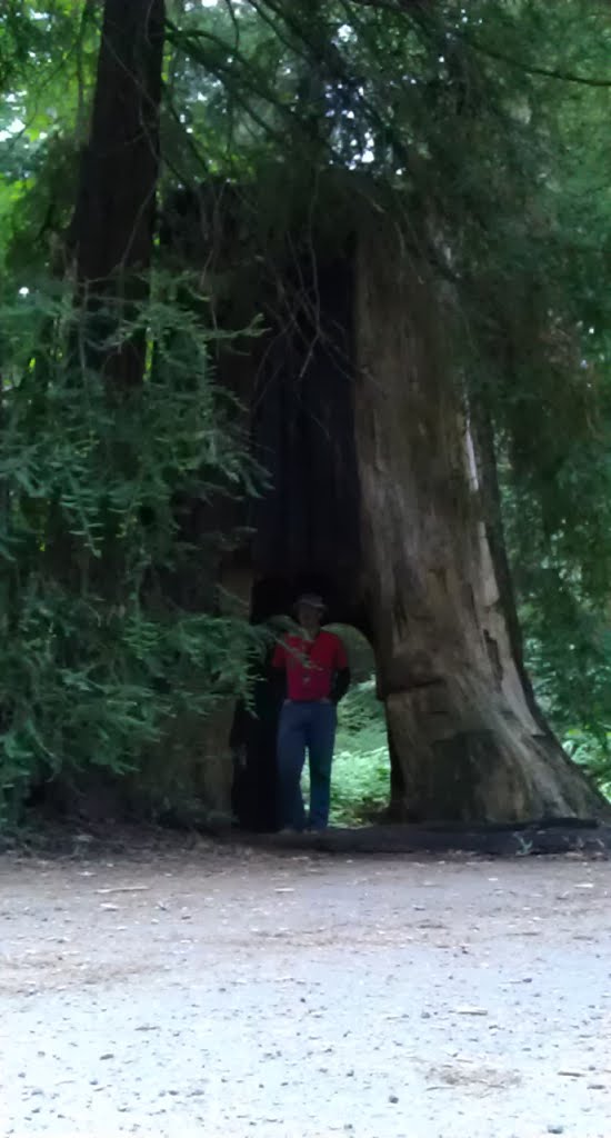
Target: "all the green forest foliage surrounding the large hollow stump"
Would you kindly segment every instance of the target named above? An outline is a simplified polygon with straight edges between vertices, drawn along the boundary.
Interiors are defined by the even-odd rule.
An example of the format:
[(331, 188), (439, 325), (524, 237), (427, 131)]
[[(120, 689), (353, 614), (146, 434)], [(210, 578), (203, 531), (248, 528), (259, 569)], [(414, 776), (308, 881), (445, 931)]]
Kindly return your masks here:
[[(528, 671), (606, 791), (608, 6), (134, 0), (123, 25), (121, 8), (9, 0), (0, 15), (5, 818), (33, 787), (92, 772), (121, 775), (147, 813), (197, 813), (218, 737), (204, 748), (203, 724), (248, 699), (273, 637), (221, 571), (249, 537), (241, 505), (271, 477), (221, 382), (223, 352), (239, 358), (264, 333), (248, 274), (236, 295), (230, 267), (253, 230), (273, 249), (296, 214), (323, 216), (337, 239), (348, 179), (355, 209), (396, 214), (452, 299), (453, 366), (494, 445)], [(138, 81), (124, 116), (99, 98), (113, 9), (108, 58)], [(102, 168), (88, 146), (105, 114)], [(132, 184), (150, 181), (138, 226), (125, 147)], [(245, 234), (231, 203), (251, 187)], [(205, 208), (189, 231), (176, 217), (193, 200)], [(105, 242), (108, 203), (121, 256)], [(217, 215), (238, 222), (213, 283), (201, 249)], [(344, 818), (361, 799), (380, 806), (383, 717), (361, 679), (338, 769), (368, 758), (347, 765)]]

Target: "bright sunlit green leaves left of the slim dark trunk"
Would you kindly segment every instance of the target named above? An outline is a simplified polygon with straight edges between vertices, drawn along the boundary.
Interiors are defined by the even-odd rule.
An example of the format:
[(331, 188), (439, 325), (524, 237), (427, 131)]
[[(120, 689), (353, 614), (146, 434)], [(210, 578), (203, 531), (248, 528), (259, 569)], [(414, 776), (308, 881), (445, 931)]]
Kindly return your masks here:
[(57, 259), (69, 223), (98, 17), (92, 0), (8, 0), (0, 14), (0, 267), (16, 277)]

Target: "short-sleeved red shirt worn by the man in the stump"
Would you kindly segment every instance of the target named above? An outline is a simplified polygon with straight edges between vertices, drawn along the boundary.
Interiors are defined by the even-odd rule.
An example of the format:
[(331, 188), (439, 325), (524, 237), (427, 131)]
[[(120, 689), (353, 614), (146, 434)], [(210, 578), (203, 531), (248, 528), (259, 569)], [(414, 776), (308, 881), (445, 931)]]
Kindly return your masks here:
[(333, 675), (348, 667), (339, 636), (321, 630), (313, 641), (286, 636), (275, 649), (272, 665), (287, 669), (287, 694), (296, 702), (328, 700)]

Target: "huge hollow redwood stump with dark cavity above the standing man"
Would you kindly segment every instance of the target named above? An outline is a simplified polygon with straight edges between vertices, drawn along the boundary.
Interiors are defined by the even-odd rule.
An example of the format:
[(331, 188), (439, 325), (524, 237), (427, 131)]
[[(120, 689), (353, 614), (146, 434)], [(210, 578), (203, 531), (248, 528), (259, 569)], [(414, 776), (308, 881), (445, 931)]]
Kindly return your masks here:
[(256, 314), (265, 327), (242, 355), (230, 346), (218, 360), (271, 476), (242, 551), (254, 616), (265, 618), (270, 582), (284, 605), (299, 580), (323, 578), (332, 619), (369, 637), (396, 817), (604, 814), (525, 682), (498, 534), (489, 539), (494, 471), (481, 477), (447, 302), (418, 242), (374, 198), (371, 188), (373, 204), (360, 197), (352, 213), (344, 200), (349, 224), (336, 239), (323, 190), (274, 240), (240, 205), (246, 251), (242, 240), (232, 262), (221, 241), (216, 262), (208, 256), (221, 323), (237, 327), (239, 311), (242, 327)]

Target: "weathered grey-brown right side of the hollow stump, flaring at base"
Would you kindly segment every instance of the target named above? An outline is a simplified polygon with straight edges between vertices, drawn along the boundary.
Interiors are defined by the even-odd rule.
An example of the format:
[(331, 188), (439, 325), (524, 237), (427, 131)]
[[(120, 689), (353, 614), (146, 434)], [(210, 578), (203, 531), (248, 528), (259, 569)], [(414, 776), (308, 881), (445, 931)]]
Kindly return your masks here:
[(453, 822), (604, 814), (523, 681), (427, 270), (380, 223), (361, 236), (356, 279), (364, 577), (403, 774), (395, 810)]

